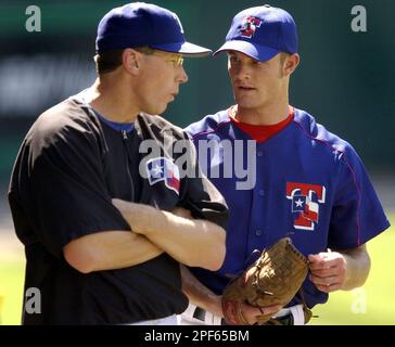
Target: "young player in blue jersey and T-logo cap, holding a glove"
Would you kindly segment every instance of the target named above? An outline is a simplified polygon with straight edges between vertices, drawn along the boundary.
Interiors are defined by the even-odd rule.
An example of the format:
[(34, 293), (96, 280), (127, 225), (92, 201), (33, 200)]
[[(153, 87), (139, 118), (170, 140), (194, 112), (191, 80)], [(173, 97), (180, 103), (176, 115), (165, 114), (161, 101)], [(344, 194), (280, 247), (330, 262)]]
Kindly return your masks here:
[[(300, 63), (292, 16), (269, 5), (244, 10), (234, 16), (219, 52), (228, 54), (237, 104), (187, 131), (230, 209), (227, 255), (218, 271), (184, 269), (183, 290), (193, 305), (182, 323), (224, 323), (221, 293), (229, 280), (252, 262), (254, 249), (289, 236), (309, 260), (302, 294), (286, 308), (244, 305), (242, 313), (250, 324), (263, 312), (281, 324), (305, 324), (306, 307), (365, 283), (370, 270), (366, 243), (390, 223), (352, 145), (289, 104), (290, 77)], [(203, 156), (207, 141), (216, 145)], [(229, 141), (233, 156), (227, 153)], [(234, 154), (240, 143), (242, 156)], [(241, 189), (237, 167), (249, 160), (254, 162), (253, 184)]]

